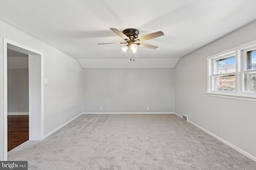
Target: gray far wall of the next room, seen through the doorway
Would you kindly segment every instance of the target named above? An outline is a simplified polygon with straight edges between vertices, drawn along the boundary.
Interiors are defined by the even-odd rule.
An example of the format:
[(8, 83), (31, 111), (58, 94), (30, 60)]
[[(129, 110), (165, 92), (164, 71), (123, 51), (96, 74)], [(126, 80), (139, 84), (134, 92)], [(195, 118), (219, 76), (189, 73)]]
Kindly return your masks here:
[(8, 113), (28, 112), (28, 68), (8, 69)]

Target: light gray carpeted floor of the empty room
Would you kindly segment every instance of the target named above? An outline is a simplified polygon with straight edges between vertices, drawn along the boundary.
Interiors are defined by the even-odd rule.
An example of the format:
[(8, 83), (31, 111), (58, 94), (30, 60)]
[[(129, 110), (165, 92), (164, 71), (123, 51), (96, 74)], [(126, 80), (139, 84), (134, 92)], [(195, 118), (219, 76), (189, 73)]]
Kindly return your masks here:
[(8, 160), (36, 170), (256, 170), (256, 162), (174, 114), (81, 115)]

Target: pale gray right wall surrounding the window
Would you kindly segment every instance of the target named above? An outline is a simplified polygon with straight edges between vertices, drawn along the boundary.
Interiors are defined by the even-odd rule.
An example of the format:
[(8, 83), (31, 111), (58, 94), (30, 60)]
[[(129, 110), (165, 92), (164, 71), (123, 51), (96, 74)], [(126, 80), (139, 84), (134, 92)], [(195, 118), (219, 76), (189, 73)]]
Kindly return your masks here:
[[(256, 156), (256, 102), (207, 96), (206, 58), (256, 40), (256, 23), (186, 57), (175, 66), (175, 112)], [(254, 159), (256, 160), (256, 159)]]

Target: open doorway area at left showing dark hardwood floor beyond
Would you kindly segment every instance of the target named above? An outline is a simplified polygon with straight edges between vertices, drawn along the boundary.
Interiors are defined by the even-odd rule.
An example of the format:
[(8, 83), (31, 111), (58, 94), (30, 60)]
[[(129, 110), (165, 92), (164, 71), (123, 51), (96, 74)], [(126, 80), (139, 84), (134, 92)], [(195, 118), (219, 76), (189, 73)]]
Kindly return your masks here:
[(28, 55), (7, 49), (7, 70), (9, 152), (29, 139)]

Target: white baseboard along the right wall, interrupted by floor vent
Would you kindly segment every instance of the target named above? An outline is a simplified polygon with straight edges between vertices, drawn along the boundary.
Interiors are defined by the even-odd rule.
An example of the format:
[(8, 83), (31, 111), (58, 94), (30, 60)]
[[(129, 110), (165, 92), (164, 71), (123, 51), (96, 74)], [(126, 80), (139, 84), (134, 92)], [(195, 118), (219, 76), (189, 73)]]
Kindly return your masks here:
[[(179, 114), (177, 114), (177, 113), (175, 113), (175, 114), (176, 114), (177, 116), (179, 116), (180, 118), (182, 118), (181, 115), (179, 115)], [(242, 149), (236, 147), (235, 145), (229, 143), (228, 141), (225, 141), (224, 139), (218, 137), (217, 135), (214, 135), (213, 133), (211, 133), (210, 131), (207, 131), (206, 129), (204, 129), (204, 128), (202, 128), (202, 127), (200, 127), (200, 126), (197, 125), (196, 123), (194, 123), (194, 122), (192, 122), (192, 121), (190, 121), (190, 120), (188, 120), (188, 122), (191, 123), (192, 125), (198, 127), (199, 129), (201, 129), (201, 130), (204, 131), (205, 133), (208, 133), (208, 134), (211, 135), (212, 137), (215, 137), (216, 139), (218, 139), (218, 140), (221, 141), (222, 143), (228, 145), (228, 146), (231, 147), (232, 149), (234, 149), (234, 150), (240, 152), (240, 153), (243, 154), (244, 156), (247, 156), (248, 158), (250, 158), (250, 159), (252, 159), (252, 160), (254, 160), (254, 161), (256, 162), (256, 157), (255, 157), (255, 156), (253, 156), (253, 155), (249, 154), (248, 152), (246, 152), (246, 151), (244, 151), (244, 150), (242, 150)]]

